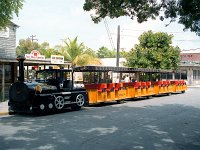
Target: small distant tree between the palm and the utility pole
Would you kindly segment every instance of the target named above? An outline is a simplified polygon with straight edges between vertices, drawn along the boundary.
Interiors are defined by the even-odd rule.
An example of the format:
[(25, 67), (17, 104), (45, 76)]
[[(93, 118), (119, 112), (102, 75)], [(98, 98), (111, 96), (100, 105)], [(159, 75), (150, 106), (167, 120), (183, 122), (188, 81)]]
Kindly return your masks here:
[(97, 50), (97, 57), (98, 58), (115, 58), (116, 52), (115, 50), (109, 50), (107, 47), (100, 47)]

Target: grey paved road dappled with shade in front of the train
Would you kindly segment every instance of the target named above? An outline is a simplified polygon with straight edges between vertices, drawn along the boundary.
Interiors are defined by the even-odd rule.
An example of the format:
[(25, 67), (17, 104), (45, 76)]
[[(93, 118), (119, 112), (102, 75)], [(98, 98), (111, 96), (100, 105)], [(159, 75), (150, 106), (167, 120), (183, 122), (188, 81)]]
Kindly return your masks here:
[(0, 118), (0, 149), (199, 150), (200, 88), (48, 116)]

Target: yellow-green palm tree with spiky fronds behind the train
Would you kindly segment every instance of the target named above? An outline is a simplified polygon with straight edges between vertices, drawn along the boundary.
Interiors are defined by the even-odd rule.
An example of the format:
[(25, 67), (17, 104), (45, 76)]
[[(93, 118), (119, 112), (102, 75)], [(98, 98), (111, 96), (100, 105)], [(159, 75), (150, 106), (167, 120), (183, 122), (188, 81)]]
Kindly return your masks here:
[(78, 37), (74, 39), (67, 38), (64, 40), (64, 47), (61, 47), (59, 52), (64, 56), (65, 60), (68, 60), (74, 66), (84, 66), (89, 64), (100, 65), (101, 62), (93, 55), (86, 53), (86, 47), (83, 43), (78, 44)]

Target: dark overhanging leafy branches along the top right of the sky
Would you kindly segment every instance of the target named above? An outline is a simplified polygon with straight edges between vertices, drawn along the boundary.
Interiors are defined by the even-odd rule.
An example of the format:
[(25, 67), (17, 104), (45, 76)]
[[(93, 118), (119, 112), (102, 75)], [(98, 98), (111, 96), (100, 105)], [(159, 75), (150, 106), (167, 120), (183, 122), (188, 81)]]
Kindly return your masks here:
[(106, 16), (129, 16), (131, 19), (136, 17), (142, 23), (160, 15), (161, 20), (169, 18), (173, 22), (177, 19), (185, 26), (184, 30), (190, 29), (200, 35), (199, 0), (85, 0), (83, 9), (95, 10), (95, 15), (91, 15), (95, 23)]

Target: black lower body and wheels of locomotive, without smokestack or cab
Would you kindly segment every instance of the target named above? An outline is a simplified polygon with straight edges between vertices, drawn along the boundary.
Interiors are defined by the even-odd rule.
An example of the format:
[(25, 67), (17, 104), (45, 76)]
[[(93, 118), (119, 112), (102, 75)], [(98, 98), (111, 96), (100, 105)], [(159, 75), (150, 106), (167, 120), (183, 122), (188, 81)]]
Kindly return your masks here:
[[(14, 83), (9, 90), (9, 112), (44, 113), (71, 107), (79, 110), (87, 102), (84, 89), (59, 91), (55, 86), (48, 86), (41, 93), (35, 91), (36, 84)], [(42, 87), (43, 85), (40, 84)]]

